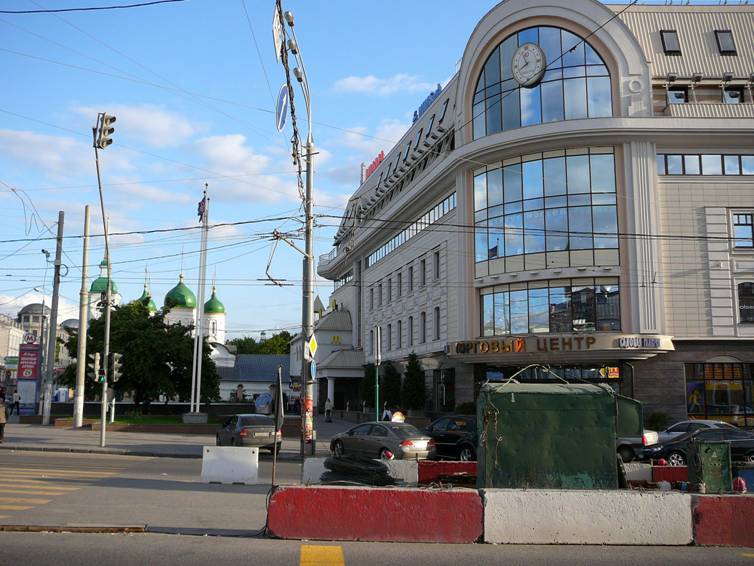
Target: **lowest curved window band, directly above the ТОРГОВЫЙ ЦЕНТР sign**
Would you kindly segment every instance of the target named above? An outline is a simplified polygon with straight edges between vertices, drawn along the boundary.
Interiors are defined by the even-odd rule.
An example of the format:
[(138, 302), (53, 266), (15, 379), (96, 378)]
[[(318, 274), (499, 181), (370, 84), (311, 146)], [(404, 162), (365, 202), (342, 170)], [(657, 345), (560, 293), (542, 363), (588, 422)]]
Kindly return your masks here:
[(482, 336), (621, 328), (617, 278), (499, 285), (481, 295), (481, 304)]

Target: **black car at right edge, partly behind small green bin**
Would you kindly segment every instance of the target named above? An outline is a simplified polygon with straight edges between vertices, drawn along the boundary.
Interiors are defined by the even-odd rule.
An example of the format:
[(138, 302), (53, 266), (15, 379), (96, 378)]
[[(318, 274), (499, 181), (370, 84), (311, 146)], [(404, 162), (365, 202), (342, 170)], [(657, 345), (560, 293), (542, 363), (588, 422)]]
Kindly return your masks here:
[(685, 466), (688, 463), (689, 444), (692, 441), (728, 440), (732, 460), (754, 463), (754, 434), (737, 429), (708, 428), (695, 430), (663, 442), (648, 446), (642, 452), (644, 459), (664, 458), (671, 466)]

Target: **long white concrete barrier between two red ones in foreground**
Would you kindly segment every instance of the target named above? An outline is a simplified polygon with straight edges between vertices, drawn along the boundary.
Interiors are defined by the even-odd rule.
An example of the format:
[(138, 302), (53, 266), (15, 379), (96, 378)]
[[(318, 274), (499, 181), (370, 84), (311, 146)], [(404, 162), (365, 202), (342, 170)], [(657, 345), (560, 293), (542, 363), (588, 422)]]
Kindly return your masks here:
[(485, 542), (686, 545), (693, 541), (688, 494), (624, 490), (481, 491)]

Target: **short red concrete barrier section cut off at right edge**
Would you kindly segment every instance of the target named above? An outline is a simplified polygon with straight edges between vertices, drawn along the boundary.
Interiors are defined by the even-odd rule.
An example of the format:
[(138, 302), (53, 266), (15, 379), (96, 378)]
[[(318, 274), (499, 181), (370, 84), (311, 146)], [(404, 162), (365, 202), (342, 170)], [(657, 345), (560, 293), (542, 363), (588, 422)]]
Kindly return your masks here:
[(754, 547), (754, 495), (693, 496), (694, 542)]

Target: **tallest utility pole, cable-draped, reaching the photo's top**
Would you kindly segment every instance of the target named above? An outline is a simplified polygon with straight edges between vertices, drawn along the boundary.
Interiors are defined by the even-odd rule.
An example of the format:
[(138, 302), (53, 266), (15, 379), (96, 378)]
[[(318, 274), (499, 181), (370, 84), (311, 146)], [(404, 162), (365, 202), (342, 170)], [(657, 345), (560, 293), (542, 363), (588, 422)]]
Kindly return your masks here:
[[(304, 96), (304, 102), (306, 104), (306, 118), (307, 118), (307, 136), (306, 145), (304, 146), (304, 162), (306, 165), (306, 183), (304, 189), (304, 261), (303, 261), (303, 285), (302, 285), (302, 316), (301, 316), (301, 333), (302, 333), (302, 367), (301, 367), (301, 392), (303, 394), (303, 402), (301, 407), (301, 453), (302, 456), (306, 456), (306, 448), (308, 447), (308, 453), (310, 456), (316, 454), (317, 449), (317, 432), (314, 429), (314, 380), (312, 379), (311, 364), (314, 361), (314, 356), (311, 355), (309, 349), (309, 343), (314, 334), (314, 215), (312, 213), (313, 208), (313, 185), (314, 185), (314, 138), (312, 134), (312, 100), (309, 90), (309, 80), (306, 74), (306, 67), (304, 66), (304, 60), (301, 55), (301, 50), (296, 38), (296, 32), (294, 30), (293, 13), (286, 11), (283, 13), (282, 0), (275, 2), (275, 22), (280, 22), (280, 27), (274, 30), (276, 35), (275, 49), (276, 55), (280, 57), (285, 69), (286, 82), (288, 85), (290, 96), (290, 108), (291, 108), (291, 122), (293, 124), (294, 132), (294, 161), (298, 163), (300, 156), (298, 155), (298, 144), (300, 143), (298, 135), (298, 127), (296, 126), (295, 108), (293, 105), (293, 85), (290, 80), (290, 70), (288, 66), (288, 52), (296, 58), (297, 67), (293, 69), (293, 75), (296, 77), (301, 91)], [(282, 26), (282, 22), (285, 21), (290, 29), (291, 39), (287, 42), (282, 41), (278, 44), (278, 39), (283, 39), (285, 36), (285, 29)], [(277, 35), (282, 37), (278, 38)]]

